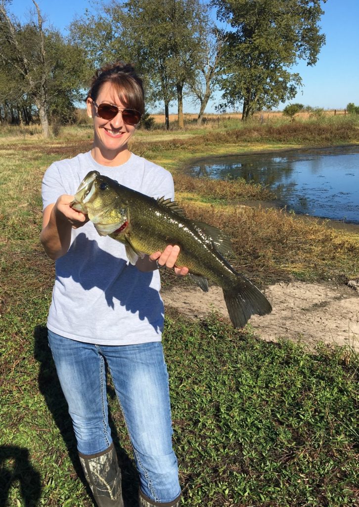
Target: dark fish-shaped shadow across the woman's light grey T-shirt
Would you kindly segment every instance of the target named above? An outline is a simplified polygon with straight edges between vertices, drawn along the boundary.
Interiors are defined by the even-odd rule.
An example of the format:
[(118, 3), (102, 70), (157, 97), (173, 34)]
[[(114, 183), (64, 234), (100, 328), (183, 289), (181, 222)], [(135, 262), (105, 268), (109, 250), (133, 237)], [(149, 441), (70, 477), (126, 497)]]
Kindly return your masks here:
[[(113, 241), (112, 238), (108, 240)], [(121, 243), (116, 246), (123, 253), (124, 246)], [(117, 300), (127, 311), (137, 313), (140, 320), (147, 319), (157, 333), (161, 332), (164, 306), (158, 291), (150, 287), (153, 271), (142, 273), (81, 233), (72, 242), (67, 254), (56, 261), (56, 273), (60, 280), (71, 277), (85, 291), (94, 287), (101, 289), (101, 293), (94, 293), (95, 299), (90, 302), (92, 311), (103, 307), (103, 299), (110, 308), (115, 307)], [(81, 295), (74, 294), (75, 300), (77, 296)]]

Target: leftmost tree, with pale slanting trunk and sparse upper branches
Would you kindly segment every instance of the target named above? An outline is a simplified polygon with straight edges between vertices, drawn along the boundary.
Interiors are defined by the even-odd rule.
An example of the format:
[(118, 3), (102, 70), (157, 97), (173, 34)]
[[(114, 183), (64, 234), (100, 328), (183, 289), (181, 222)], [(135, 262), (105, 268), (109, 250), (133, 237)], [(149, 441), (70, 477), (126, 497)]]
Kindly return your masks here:
[(21, 25), (7, 12), (5, 0), (0, 2), (2, 109), (4, 117), (5, 110), (12, 116), (17, 112), (15, 123), (29, 123), (35, 105), (43, 134), (48, 137), (49, 115), (60, 120), (71, 117), (84, 54), (58, 31), (45, 29), (41, 11), (35, 0), (32, 3), (35, 16)]

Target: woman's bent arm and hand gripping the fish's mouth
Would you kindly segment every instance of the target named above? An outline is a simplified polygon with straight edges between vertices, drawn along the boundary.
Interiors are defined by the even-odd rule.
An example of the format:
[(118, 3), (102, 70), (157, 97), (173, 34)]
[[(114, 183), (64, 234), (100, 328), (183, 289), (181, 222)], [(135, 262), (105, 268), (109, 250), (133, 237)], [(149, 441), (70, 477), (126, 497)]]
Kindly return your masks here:
[(44, 209), (43, 229), (40, 234), (47, 255), (52, 260), (59, 259), (69, 249), (71, 228), (77, 229), (88, 222), (88, 216), (70, 207), (72, 195), (61, 195), (55, 204)]

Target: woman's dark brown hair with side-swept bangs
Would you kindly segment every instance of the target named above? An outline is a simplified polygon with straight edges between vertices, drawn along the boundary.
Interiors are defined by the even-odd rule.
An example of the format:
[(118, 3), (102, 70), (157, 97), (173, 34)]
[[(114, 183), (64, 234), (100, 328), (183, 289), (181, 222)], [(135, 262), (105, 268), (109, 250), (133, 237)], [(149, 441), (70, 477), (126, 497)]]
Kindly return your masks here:
[(104, 83), (111, 83), (126, 107), (131, 107), (143, 115), (144, 91), (142, 79), (137, 76), (130, 63), (108, 63), (96, 70), (92, 78), (86, 100), (90, 97), (96, 102), (100, 88)]

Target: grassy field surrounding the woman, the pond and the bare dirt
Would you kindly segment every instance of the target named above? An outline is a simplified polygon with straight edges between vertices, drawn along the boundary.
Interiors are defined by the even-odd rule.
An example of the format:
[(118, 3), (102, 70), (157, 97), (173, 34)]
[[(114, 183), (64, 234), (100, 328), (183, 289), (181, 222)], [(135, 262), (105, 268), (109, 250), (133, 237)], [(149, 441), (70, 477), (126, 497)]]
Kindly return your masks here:
[[(183, 131), (140, 130), (132, 150), (172, 171), (190, 218), (233, 238), (233, 264), (261, 287), (274, 281), (359, 277), (359, 239), (285, 210), (241, 207), (270, 200), (242, 181), (193, 180), (193, 158), (359, 142), (342, 116), (283, 118), (243, 126), (236, 118)], [(66, 404), (46, 341), (54, 265), (41, 245), (40, 186), (46, 167), (91, 147), (87, 125), (44, 140), (34, 127), (0, 129), (0, 505), (90, 507)], [(165, 273), (164, 286), (186, 287)], [(101, 316), (99, 315), (99, 318)], [(359, 502), (358, 354), (264, 342), (248, 325), (233, 330), (216, 314), (166, 316), (174, 448), (184, 507), (355, 507)], [(127, 507), (137, 505), (131, 445), (108, 393)]]

